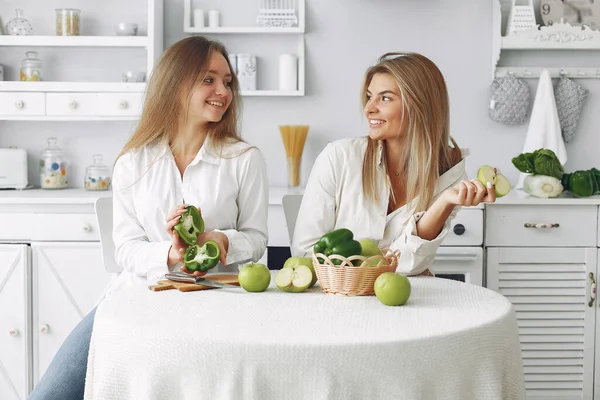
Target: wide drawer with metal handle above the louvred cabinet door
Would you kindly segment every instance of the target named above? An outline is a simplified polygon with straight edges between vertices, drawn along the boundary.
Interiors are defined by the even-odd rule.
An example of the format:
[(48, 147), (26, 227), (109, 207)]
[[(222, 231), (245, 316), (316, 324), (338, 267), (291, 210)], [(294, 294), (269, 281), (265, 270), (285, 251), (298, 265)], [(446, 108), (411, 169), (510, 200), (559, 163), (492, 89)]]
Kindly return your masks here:
[(596, 206), (505, 206), (486, 208), (487, 246), (596, 247)]

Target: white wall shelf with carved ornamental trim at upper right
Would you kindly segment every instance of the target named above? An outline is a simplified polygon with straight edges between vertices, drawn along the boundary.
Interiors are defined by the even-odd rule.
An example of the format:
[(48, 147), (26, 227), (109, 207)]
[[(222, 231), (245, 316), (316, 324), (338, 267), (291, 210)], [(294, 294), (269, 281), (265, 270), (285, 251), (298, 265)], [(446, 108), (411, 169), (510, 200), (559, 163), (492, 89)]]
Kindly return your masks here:
[(573, 78), (600, 78), (595, 67), (499, 67), (502, 51), (600, 50), (600, 31), (592, 30), (588, 26), (572, 26), (567, 22), (558, 22), (552, 26), (537, 25), (535, 28), (502, 36), (500, 0), (494, 1), (492, 13), (492, 79), (509, 73), (522, 78), (536, 78), (544, 69), (548, 69), (553, 77), (562, 74)]

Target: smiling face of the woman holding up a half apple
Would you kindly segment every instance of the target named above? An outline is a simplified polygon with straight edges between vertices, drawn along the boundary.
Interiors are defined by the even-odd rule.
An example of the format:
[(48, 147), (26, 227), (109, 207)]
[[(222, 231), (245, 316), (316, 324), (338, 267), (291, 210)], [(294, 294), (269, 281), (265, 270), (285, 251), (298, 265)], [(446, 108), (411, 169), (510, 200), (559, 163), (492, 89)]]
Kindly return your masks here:
[(396, 139), (407, 125), (406, 112), (398, 84), (390, 74), (378, 72), (367, 88), (365, 116), (369, 137), (374, 140)]

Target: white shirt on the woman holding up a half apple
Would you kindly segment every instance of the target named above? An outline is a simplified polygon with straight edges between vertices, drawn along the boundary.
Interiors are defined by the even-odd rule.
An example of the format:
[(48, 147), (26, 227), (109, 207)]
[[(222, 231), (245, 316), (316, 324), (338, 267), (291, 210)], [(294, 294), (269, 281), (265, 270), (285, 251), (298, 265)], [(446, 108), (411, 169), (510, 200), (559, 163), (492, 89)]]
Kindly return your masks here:
[[(435, 239), (421, 239), (416, 225), (424, 212), (412, 213), (414, 200), (387, 214), (390, 183), (383, 166), (381, 143), (377, 168), (379, 201), (363, 196), (362, 165), (366, 149), (366, 137), (342, 139), (328, 144), (317, 157), (298, 212), (292, 255), (312, 255), (313, 246), (321, 236), (347, 228), (357, 240), (370, 238), (378, 241), (380, 248), (399, 250), (398, 272), (420, 274), (433, 262), (459, 207), (454, 208)], [(440, 177), (434, 199), (462, 179), (467, 179), (464, 159)]]

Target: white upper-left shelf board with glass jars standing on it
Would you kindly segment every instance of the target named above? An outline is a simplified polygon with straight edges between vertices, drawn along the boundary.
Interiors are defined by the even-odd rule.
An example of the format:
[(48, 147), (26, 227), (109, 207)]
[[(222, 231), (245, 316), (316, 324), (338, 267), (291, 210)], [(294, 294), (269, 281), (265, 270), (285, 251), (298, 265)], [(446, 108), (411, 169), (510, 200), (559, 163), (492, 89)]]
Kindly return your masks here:
[(0, 46), (147, 47), (147, 36), (0, 36)]

